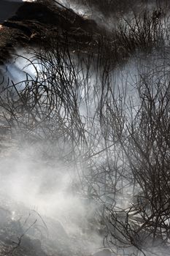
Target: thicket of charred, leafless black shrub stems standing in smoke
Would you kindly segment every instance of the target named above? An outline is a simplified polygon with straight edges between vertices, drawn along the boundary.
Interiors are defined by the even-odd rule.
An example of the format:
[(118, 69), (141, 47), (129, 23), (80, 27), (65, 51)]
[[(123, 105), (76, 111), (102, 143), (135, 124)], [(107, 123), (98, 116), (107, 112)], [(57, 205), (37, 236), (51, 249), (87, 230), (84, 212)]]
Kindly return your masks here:
[(88, 232), (115, 255), (169, 255), (168, 17), (144, 11), (96, 40), (77, 50), (66, 33), (15, 55), (25, 79), (1, 85), (1, 123), (18, 147), (74, 165), (72, 191), (98, 204)]

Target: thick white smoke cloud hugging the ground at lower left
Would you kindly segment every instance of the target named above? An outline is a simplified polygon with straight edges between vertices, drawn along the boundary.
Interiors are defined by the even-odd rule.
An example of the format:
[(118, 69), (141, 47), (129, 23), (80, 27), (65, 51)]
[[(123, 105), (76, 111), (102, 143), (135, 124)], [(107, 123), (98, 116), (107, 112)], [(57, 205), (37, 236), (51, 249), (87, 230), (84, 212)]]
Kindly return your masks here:
[(4, 213), (13, 225), (20, 222), (21, 229), (13, 236), (15, 241), (34, 224), (26, 236), (39, 239), (42, 246), (50, 241), (52, 251), (90, 254), (102, 246), (96, 227), (88, 223), (97, 204), (75, 192), (73, 187), (79, 184), (75, 173), (70, 164), (43, 160), (40, 151), (31, 145), (22, 151), (13, 148), (1, 157), (1, 225), (5, 225), (4, 219), (7, 221)]

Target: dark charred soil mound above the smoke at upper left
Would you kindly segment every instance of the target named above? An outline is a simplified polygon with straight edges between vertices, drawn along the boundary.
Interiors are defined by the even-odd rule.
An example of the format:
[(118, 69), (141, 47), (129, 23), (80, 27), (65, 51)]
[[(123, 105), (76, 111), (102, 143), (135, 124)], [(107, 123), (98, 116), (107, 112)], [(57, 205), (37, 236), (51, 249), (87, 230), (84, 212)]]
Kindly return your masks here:
[(95, 21), (85, 20), (51, 1), (25, 2), (12, 18), (2, 23), (0, 64), (9, 59), (14, 48), (49, 45), (56, 39), (85, 50), (96, 44), (100, 33)]

